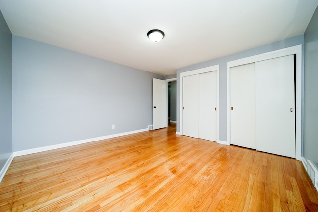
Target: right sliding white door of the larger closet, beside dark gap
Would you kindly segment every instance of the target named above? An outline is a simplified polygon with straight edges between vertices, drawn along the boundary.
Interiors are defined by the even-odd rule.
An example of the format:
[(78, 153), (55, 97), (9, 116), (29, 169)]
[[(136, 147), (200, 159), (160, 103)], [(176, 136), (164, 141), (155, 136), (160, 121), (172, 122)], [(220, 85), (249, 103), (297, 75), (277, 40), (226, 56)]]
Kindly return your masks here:
[(257, 150), (295, 158), (293, 55), (255, 63)]

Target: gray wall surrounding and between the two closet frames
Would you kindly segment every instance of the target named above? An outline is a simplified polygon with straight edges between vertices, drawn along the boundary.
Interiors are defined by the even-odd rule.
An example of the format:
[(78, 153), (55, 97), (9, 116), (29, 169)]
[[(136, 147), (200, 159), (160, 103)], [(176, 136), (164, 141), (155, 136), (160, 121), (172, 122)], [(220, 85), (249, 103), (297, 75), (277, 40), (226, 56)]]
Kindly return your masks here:
[[(185, 71), (192, 71), (204, 67), (209, 67), (219, 64), (219, 140), (226, 141), (227, 137), (227, 62), (238, 60), (245, 57), (250, 57), (257, 54), (262, 54), (265, 52), (275, 51), (282, 48), (287, 48), (299, 44), (304, 44), (304, 35), (295, 36), (289, 39), (278, 41), (275, 43), (267, 44), (264, 46), (249, 49), (243, 52), (228, 55), (222, 58), (217, 58), (214, 60), (202, 62), (192, 66), (177, 69), (177, 131), (180, 131), (180, 73)], [(304, 49), (304, 46), (303, 46)], [(218, 51), (218, 50), (211, 50)], [(304, 51), (302, 51), (304, 52)], [(304, 58), (304, 57), (303, 57)], [(303, 60), (303, 59), (302, 59)]]

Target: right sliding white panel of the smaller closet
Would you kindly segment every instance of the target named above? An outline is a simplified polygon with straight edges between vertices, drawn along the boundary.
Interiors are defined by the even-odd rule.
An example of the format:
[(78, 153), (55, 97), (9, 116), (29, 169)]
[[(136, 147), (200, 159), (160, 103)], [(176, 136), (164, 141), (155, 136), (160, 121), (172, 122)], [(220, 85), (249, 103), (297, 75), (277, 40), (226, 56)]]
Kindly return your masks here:
[(217, 140), (217, 72), (199, 75), (199, 138)]

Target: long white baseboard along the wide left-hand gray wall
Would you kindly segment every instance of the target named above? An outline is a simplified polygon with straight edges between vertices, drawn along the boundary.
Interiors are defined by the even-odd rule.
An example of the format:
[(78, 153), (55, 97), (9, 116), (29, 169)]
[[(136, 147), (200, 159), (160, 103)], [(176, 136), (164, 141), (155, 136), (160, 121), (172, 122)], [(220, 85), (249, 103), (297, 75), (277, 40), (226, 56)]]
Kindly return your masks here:
[(140, 132), (144, 132), (144, 131), (148, 131), (148, 128), (130, 131), (130, 132), (125, 132), (125, 133), (118, 133), (118, 134), (113, 134), (113, 135), (108, 135), (108, 136), (101, 136), (101, 137), (96, 137), (96, 138), (92, 138), (92, 139), (84, 139), (84, 140), (80, 140), (80, 141), (73, 141), (73, 142), (61, 143), (61, 144), (56, 144), (56, 145), (51, 145), (51, 146), (44, 146), (44, 147), (39, 147), (39, 148), (16, 151), (16, 152), (13, 152), (13, 156), (17, 157), (17, 156), (22, 156), (22, 155), (27, 155), (27, 154), (33, 154), (33, 153), (38, 153), (38, 152), (43, 152), (43, 151), (48, 151), (48, 150), (53, 150), (53, 149), (58, 149), (58, 148), (64, 148), (64, 147), (68, 147), (68, 146), (74, 146), (74, 145), (79, 145), (79, 144), (93, 142), (93, 141), (100, 141), (100, 140), (111, 139), (111, 138), (115, 138), (115, 137), (119, 137), (119, 136), (126, 136), (129, 134), (140, 133)]

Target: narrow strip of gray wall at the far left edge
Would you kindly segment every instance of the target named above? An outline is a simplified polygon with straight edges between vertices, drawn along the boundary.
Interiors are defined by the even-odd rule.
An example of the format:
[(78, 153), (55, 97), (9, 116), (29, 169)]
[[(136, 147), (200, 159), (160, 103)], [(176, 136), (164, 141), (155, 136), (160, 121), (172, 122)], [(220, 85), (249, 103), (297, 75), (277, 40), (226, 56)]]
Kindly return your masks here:
[(0, 11), (0, 170), (12, 154), (12, 34)]

